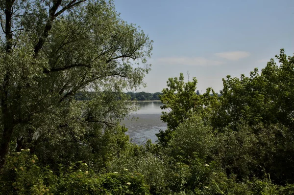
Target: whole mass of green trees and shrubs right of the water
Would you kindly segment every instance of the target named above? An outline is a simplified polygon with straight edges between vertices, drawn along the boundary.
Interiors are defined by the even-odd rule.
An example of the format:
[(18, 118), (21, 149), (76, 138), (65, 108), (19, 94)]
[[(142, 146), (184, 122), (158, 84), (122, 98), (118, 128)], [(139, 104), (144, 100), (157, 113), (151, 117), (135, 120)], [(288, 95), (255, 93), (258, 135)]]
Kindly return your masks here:
[[(191, 163), (196, 152), (200, 154), (198, 158), (218, 162), (227, 176), (233, 174), (239, 181), (263, 179), (269, 173), (274, 184), (291, 184), (294, 56), (287, 57), (281, 49), (276, 58), (281, 65), (271, 59), (260, 73), (255, 68), (249, 77), (228, 75), (223, 79), (221, 97), (214, 92), (211, 95), (209, 89), (203, 95), (195, 95), (196, 83), (184, 83), (182, 74), (179, 79), (170, 78), (169, 88), (161, 96), (163, 108), (172, 108), (162, 116), (168, 129), (158, 134), (159, 143), (171, 150), (167, 155)], [(193, 121), (198, 117), (200, 121)], [(197, 144), (205, 141), (208, 146), (210, 137), (216, 138), (212, 147), (206, 152), (199, 151), (204, 148)]]

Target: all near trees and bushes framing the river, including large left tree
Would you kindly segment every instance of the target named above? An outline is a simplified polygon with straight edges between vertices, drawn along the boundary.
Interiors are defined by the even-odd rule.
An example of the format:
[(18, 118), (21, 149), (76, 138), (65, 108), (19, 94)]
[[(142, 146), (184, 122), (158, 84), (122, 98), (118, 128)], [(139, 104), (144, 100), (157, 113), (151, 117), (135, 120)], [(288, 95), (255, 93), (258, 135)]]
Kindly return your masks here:
[[(280, 65), (223, 79), (221, 96), (183, 74), (162, 93), (123, 93), (143, 83), (152, 41), (112, 1), (0, 8), (0, 195), (294, 194), (294, 56), (283, 49)], [(132, 98), (162, 101), (157, 143), (124, 134)]]

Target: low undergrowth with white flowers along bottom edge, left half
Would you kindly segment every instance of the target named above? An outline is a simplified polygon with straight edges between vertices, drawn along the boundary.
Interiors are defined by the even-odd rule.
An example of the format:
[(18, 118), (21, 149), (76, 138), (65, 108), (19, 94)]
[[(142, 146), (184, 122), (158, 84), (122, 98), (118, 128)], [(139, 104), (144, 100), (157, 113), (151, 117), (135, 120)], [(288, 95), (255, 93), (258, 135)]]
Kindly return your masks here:
[(61, 166), (52, 172), (38, 166), (28, 150), (9, 155), (0, 176), (3, 195), (149, 195), (144, 176), (124, 169), (97, 174), (86, 163)]

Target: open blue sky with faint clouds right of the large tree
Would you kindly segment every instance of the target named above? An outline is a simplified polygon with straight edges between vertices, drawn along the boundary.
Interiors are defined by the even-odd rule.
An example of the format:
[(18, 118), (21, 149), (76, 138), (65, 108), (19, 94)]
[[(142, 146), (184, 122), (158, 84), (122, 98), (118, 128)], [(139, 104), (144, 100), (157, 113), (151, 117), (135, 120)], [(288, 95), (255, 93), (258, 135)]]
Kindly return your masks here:
[(158, 92), (180, 72), (197, 89), (222, 89), (267, 65), (284, 48), (294, 55), (294, 0), (114, 0), (117, 12), (141, 26), (153, 43), (147, 87)]

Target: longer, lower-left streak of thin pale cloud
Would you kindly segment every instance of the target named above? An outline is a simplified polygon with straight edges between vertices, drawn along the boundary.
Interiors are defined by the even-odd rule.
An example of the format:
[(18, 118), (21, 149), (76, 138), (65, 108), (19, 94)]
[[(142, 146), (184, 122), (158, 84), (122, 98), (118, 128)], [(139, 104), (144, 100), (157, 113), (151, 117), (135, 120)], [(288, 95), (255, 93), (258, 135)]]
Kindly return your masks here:
[(206, 66), (206, 65), (222, 65), (221, 61), (209, 60), (202, 57), (173, 57), (173, 58), (159, 58), (156, 60), (158, 63), (168, 65), (193, 65), (193, 66)]

